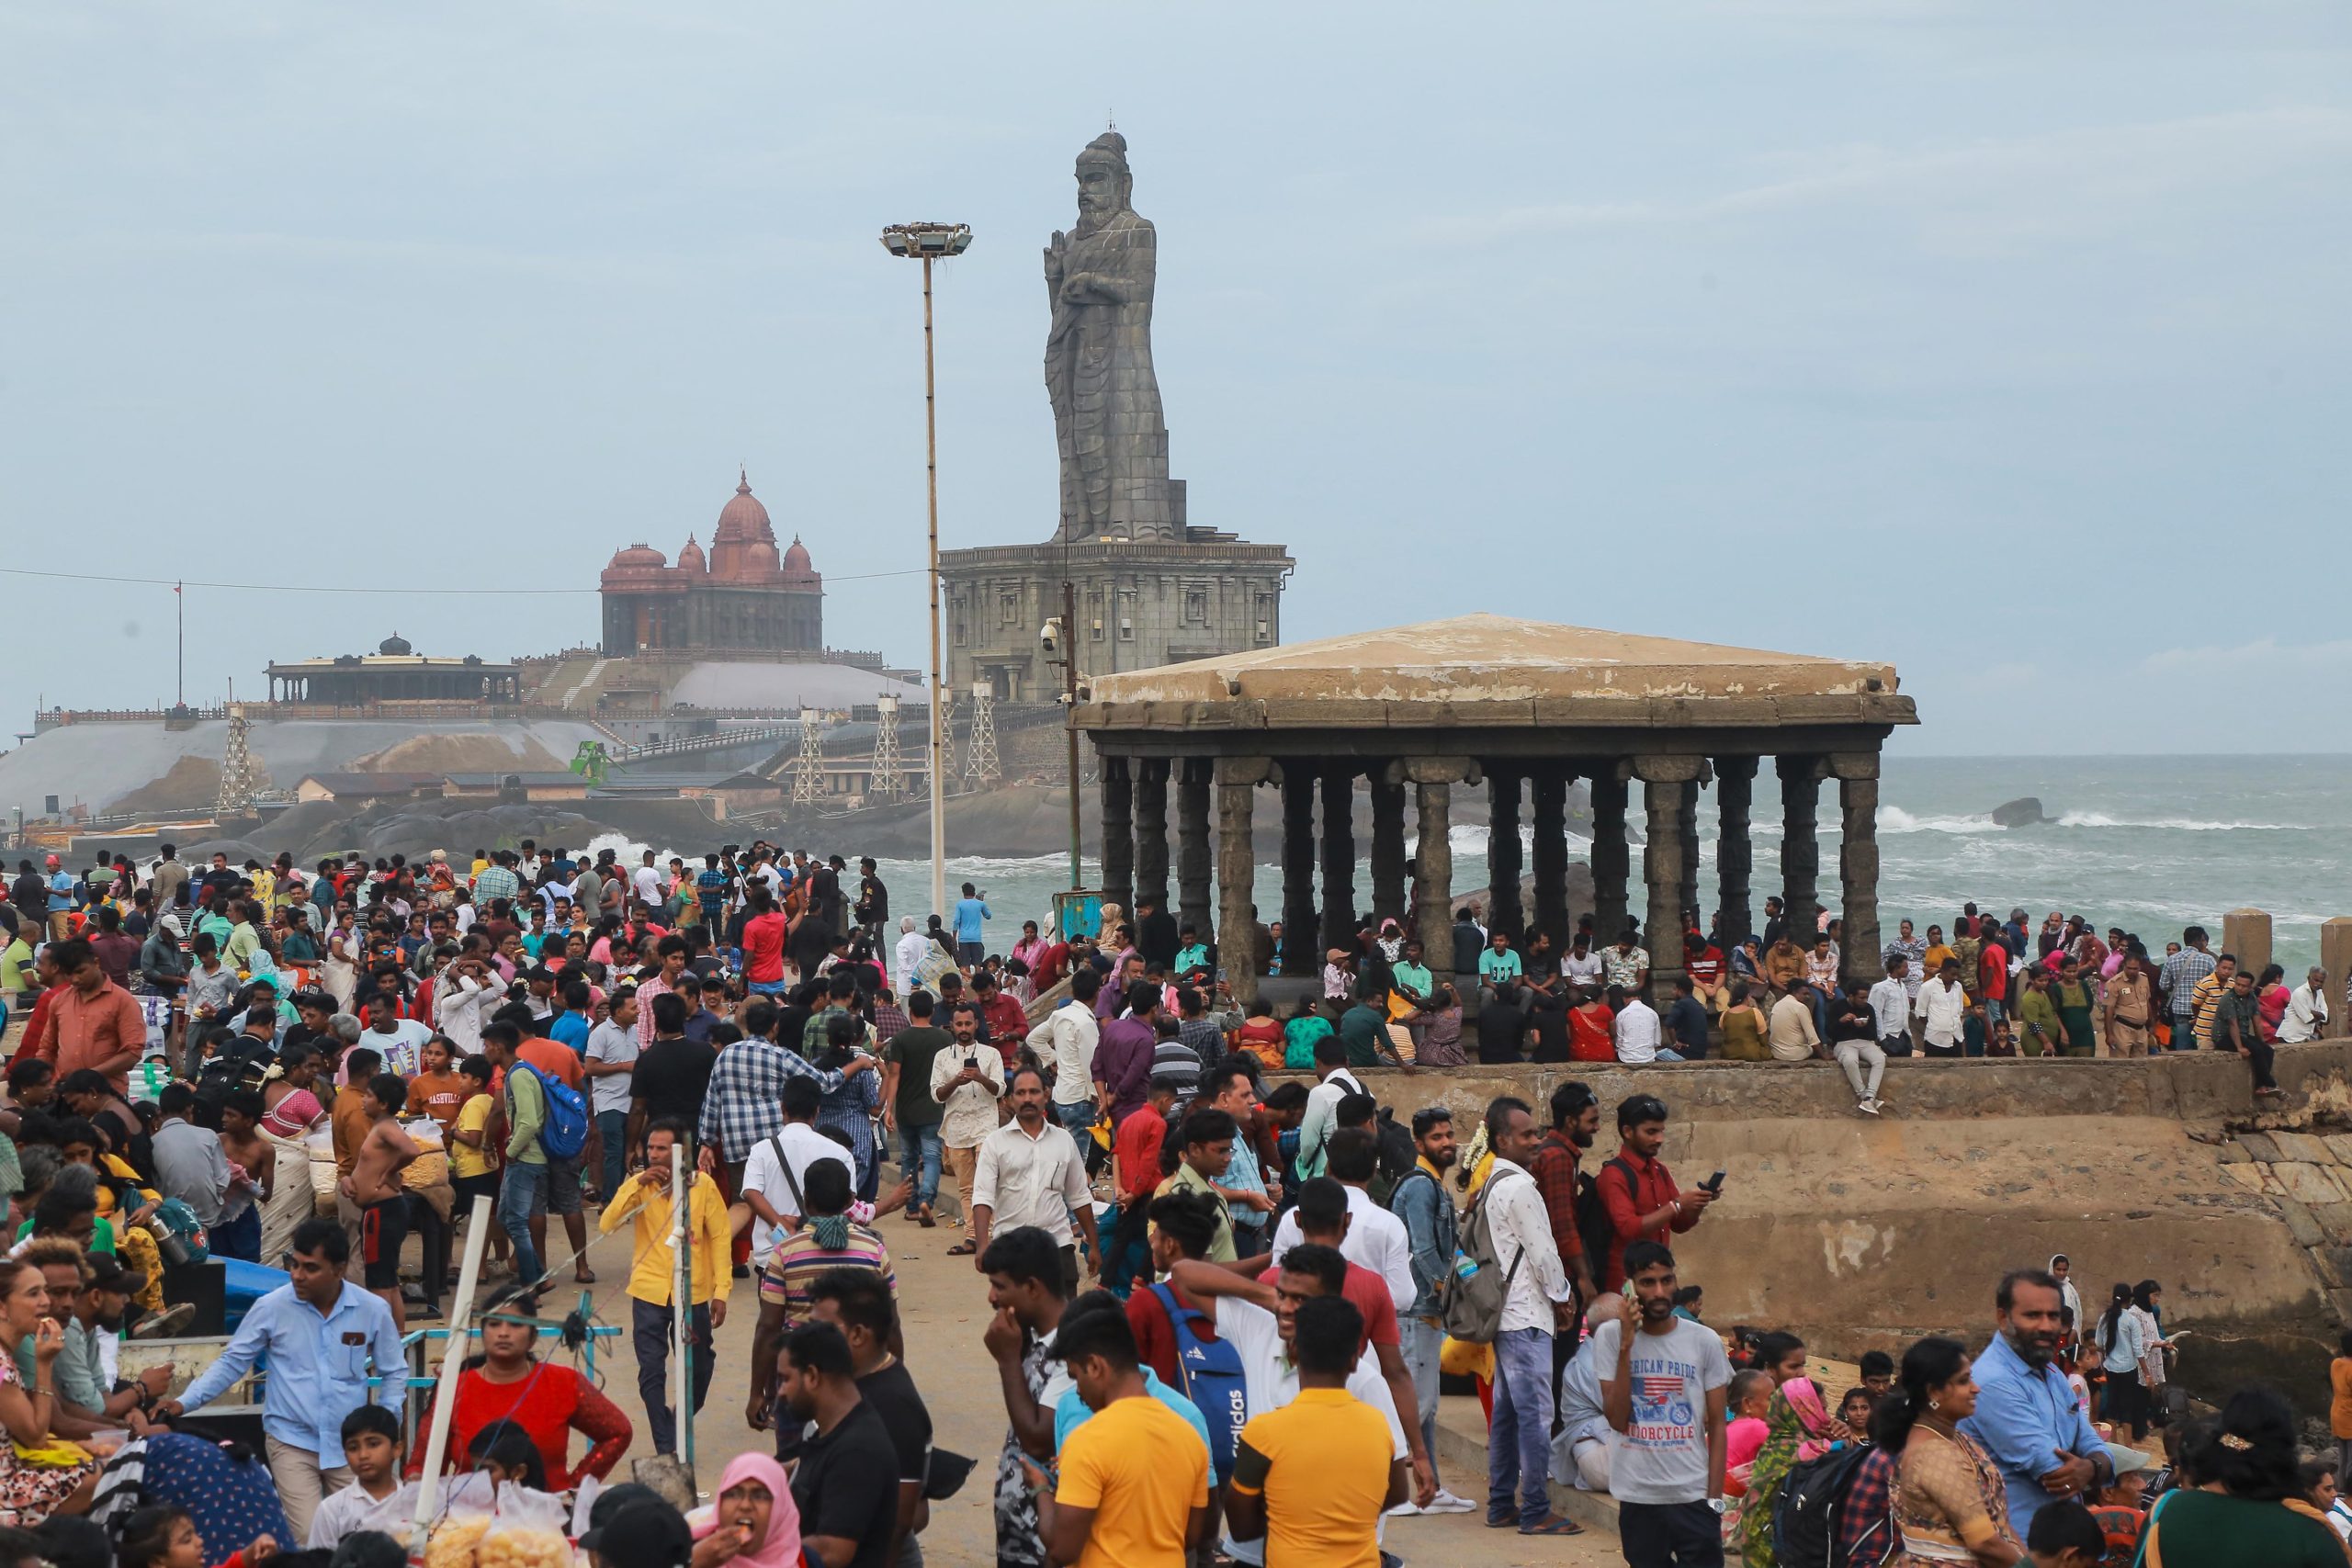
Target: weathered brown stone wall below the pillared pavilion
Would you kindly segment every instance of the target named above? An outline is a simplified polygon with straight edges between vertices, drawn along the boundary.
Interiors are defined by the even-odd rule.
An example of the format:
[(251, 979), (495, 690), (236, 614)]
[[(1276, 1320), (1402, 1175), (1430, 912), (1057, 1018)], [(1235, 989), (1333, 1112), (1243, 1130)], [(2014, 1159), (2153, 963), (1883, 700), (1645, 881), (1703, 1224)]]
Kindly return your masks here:
[(1708, 1321), (1785, 1326), (1828, 1354), (1900, 1352), (1922, 1333), (1978, 1342), (2004, 1269), (2074, 1260), (2084, 1309), (2114, 1281), (2164, 1284), (2194, 1328), (2178, 1378), (2220, 1394), (2267, 1378), (2324, 1410), (2352, 1324), (2352, 1046), (2279, 1048), (2288, 1112), (2256, 1112), (2244, 1063), (1889, 1063), (1879, 1119), (1856, 1117), (1830, 1063), (1463, 1067), (1376, 1074), (1399, 1119), (1444, 1103), (1461, 1133), (1498, 1093), (1545, 1119), (1588, 1077), (1616, 1150), (1616, 1105), (1670, 1112), (1665, 1161), (1724, 1199), (1675, 1244)]

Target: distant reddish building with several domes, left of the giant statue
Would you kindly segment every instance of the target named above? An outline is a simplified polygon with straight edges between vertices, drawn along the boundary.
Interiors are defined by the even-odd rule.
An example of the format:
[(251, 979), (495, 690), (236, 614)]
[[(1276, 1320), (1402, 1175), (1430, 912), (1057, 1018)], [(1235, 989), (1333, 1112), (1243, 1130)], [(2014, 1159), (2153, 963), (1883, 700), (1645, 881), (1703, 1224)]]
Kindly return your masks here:
[(652, 545), (628, 545), (604, 567), (602, 597), (607, 658), (826, 646), (826, 581), (797, 536), (776, 555), (776, 529), (748, 475), (720, 508), (708, 557), (691, 534), (675, 567)]

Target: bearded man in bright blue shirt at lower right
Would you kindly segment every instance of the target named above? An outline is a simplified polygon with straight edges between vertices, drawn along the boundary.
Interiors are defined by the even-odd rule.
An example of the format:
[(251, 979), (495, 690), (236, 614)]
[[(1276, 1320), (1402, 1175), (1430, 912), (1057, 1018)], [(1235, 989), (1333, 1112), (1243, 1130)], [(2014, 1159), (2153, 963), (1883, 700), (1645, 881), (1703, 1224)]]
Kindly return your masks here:
[(1999, 1333), (1976, 1359), (1976, 1413), (1959, 1429), (1985, 1446), (2009, 1490), (2009, 1528), (2025, 1540), (2034, 1512), (2114, 1479), (2114, 1460), (2058, 1371), (2058, 1281), (2011, 1269), (1994, 1293)]

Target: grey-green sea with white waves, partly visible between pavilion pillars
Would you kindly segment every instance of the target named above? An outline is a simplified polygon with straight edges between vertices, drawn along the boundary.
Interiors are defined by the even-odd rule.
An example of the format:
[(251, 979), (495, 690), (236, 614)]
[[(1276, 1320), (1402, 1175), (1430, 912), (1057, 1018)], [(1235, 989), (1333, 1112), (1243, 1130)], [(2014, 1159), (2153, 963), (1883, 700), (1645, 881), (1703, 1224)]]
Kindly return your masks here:
[[(2084, 914), (2105, 931), (2124, 926), (2164, 952), (2183, 926), (2201, 924), (2220, 943), (2225, 910), (2251, 905), (2272, 917), (2272, 957), (2288, 978), (2319, 961), (2319, 924), (2352, 914), (2352, 773), (2347, 757), (1886, 757), (1879, 780), (1879, 924), (1893, 933), (1910, 917), (1922, 931), (1952, 929), (1962, 905), (2009, 914), (2023, 907), (2032, 924), (2051, 910)], [(1992, 809), (2034, 797), (2051, 820), (1999, 827)], [(851, 818), (854, 820), (854, 818)], [(1411, 818), (1406, 818), (1411, 820)], [(1639, 832), (1642, 795), (1628, 820)], [(1715, 900), (1715, 792), (1698, 804), (1700, 903)], [(1839, 813), (1837, 785), (1820, 788), (1820, 893), (1837, 905)], [(1766, 769), (1757, 778), (1755, 900), (1780, 884), (1778, 792)], [(635, 856), (640, 844), (595, 842)], [(1583, 858), (1590, 839), (1571, 825), (1569, 856)], [(656, 846), (673, 849), (673, 846)], [(701, 853), (703, 846), (675, 846)], [(856, 856), (856, 844), (826, 844), (823, 853)], [(950, 844), (953, 849), (953, 844)], [(1526, 865), (1526, 858), (1522, 858)], [(1089, 858), (1089, 886), (1098, 875)], [(927, 860), (882, 860), (891, 907), (920, 910), (931, 867)], [(1642, 858), (1635, 853), (1632, 905), (1642, 910)], [(1023, 919), (1047, 922), (1054, 893), (1070, 886), (1068, 856), (978, 858), (950, 856), (948, 898), (971, 882), (1004, 931)], [(1371, 886), (1357, 867), (1357, 898)], [(1486, 884), (1486, 830), (1454, 830), (1454, 889)], [(1282, 877), (1258, 867), (1258, 907), (1279, 907)]]

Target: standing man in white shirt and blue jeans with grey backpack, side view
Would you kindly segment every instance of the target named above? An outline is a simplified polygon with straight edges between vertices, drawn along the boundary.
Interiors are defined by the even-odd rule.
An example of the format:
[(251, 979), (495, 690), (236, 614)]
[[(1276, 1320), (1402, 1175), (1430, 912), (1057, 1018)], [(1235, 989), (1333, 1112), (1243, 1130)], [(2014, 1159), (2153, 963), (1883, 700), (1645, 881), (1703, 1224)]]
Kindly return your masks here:
[[(1486, 1107), (1494, 1173), (1479, 1204), (1494, 1237), (1496, 1267), (1510, 1284), (1494, 1335), (1494, 1420), (1486, 1427), (1486, 1523), (1508, 1526), (1517, 1493), (1519, 1535), (1578, 1535), (1552, 1514), (1552, 1333), (1573, 1324), (1569, 1274), (1559, 1265), (1552, 1220), (1529, 1166), (1543, 1128), (1526, 1100), (1503, 1095)], [(1468, 1220), (1465, 1220), (1468, 1229)]]

